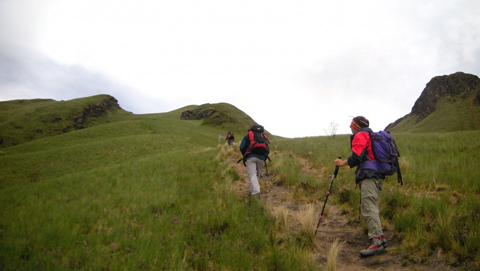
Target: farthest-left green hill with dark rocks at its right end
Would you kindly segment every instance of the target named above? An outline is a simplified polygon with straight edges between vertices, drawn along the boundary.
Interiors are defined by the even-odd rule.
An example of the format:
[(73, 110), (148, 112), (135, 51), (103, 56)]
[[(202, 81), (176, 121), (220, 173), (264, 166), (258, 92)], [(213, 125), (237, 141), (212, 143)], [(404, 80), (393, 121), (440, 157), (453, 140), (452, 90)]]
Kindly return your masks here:
[(121, 109), (113, 97), (104, 94), (67, 101), (0, 101), (0, 147), (117, 121), (128, 115), (131, 113)]

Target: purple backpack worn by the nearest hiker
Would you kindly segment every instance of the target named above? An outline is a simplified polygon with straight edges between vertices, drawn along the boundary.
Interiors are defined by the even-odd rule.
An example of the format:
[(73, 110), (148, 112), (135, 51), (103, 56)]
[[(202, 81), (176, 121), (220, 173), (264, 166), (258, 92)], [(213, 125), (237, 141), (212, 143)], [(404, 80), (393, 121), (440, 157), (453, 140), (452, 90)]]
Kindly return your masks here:
[(398, 147), (390, 135), (390, 131), (370, 133), (371, 150), (375, 156), (375, 165), (383, 175), (393, 175), (396, 172), (398, 183), (403, 185), (400, 165), (398, 164)]

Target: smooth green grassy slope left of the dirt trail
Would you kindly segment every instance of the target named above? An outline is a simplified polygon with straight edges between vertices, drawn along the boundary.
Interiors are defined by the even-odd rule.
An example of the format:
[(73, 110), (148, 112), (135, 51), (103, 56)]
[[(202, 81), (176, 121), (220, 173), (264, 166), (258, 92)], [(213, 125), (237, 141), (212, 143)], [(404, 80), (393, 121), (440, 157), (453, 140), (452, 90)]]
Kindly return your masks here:
[(177, 116), (3, 148), (0, 269), (313, 269), (234, 190), (223, 130)]

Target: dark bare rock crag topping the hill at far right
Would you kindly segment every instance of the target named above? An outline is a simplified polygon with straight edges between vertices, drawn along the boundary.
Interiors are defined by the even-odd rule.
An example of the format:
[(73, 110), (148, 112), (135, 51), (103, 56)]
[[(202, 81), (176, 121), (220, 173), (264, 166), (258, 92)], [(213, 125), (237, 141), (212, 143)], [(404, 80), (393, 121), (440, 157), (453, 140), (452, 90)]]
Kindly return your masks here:
[(401, 120), (409, 115), (415, 115), (418, 120), (425, 118), (428, 114), (435, 110), (436, 102), (440, 97), (451, 97), (452, 99), (465, 99), (471, 96), (472, 92), (476, 93), (472, 104), (480, 105), (480, 78), (473, 74), (461, 71), (449, 74), (435, 76), (426, 84), (418, 99), (413, 104), (411, 112), (395, 122), (388, 124), (385, 130), (391, 129), (393, 126), (401, 122)]

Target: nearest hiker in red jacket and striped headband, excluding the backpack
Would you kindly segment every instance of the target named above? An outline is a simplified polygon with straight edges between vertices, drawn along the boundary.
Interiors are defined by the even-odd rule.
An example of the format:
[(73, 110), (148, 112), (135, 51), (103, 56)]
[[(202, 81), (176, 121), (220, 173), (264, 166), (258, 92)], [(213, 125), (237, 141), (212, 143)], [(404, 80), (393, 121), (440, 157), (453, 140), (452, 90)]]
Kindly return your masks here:
[[(335, 159), (337, 166), (357, 166), (355, 170), (355, 184), (360, 187), (360, 213), (368, 228), (368, 247), (360, 250), (360, 255), (366, 256), (383, 250), (387, 241), (381, 230), (378, 210), (378, 196), (385, 176), (376, 169), (365, 168), (375, 157), (371, 150), (369, 122), (363, 116), (356, 116), (350, 123), (351, 132), (350, 147), (351, 155), (346, 160)], [(367, 157), (368, 156), (368, 157)], [(368, 166), (366, 166), (368, 167)]]

